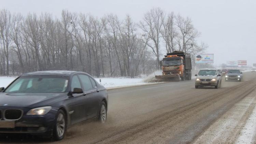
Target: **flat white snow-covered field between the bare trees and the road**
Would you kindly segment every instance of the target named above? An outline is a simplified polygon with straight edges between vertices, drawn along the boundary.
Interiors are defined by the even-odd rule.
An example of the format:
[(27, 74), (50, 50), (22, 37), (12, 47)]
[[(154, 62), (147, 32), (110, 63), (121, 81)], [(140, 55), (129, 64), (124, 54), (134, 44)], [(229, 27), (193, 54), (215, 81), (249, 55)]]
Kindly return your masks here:
[[(8, 86), (13, 80), (15, 80), (15, 78), (16, 77), (0, 76), (0, 87)], [(119, 77), (119, 78), (95, 78), (95, 80), (106, 88), (148, 84), (143, 82), (144, 78)]]

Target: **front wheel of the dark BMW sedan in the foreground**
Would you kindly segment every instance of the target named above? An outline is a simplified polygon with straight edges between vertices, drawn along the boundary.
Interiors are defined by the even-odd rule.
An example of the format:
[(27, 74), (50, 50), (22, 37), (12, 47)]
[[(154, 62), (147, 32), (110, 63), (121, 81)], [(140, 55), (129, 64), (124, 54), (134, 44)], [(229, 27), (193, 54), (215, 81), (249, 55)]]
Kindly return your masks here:
[(53, 129), (53, 139), (60, 141), (64, 138), (67, 130), (67, 118), (63, 110), (59, 110), (56, 114), (55, 124)]

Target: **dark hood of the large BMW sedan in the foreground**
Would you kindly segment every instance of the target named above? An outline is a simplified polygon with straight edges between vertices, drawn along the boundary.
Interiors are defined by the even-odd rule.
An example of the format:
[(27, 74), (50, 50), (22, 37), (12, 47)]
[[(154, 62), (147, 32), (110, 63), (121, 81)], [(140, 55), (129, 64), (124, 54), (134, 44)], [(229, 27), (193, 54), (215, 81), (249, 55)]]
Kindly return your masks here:
[(34, 108), (49, 105), (61, 98), (64, 98), (63, 93), (0, 92), (0, 107)]

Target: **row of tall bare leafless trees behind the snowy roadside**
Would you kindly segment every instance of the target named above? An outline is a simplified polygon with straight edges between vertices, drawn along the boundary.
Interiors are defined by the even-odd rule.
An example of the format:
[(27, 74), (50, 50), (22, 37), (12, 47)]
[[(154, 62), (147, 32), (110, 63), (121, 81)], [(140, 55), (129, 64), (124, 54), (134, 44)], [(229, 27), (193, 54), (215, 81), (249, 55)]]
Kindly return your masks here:
[[(153, 8), (135, 23), (127, 15), (97, 18), (61, 12), (23, 16), (0, 10), (0, 75), (75, 70), (94, 76), (136, 76), (158, 69), (161, 54), (206, 46), (190, 18)], [(161, 48), (160, 48), (161, 47)], [(161, 50), (160, 50), (161, 49)]]

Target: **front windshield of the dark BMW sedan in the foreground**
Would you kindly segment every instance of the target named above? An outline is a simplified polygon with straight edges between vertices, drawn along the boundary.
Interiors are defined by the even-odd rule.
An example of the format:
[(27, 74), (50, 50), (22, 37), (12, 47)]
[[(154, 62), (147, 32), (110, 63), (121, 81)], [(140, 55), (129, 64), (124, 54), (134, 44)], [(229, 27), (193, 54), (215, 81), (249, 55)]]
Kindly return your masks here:
[(65, 92), (68, 86), (67, 76), (21, 76), (4, 92)]

